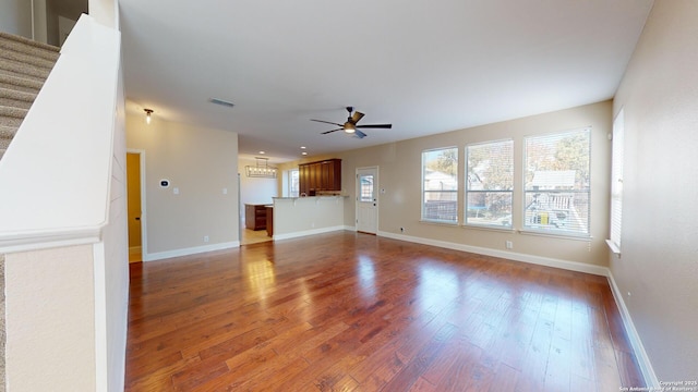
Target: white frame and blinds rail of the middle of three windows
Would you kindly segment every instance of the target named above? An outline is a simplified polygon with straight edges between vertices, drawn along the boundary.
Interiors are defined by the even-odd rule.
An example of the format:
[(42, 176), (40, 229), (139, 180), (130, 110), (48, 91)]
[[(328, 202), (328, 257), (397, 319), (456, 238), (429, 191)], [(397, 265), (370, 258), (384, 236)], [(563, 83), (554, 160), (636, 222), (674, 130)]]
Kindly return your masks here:
[[(471, 147), (482, 147), (482, 146), (495, 146), (495, 145), (501, 145), (501, 144), (508, 144), (509, 148), (510, 148), (510, 187), (508, 189), (471, 189), (470, 188), (470, 154)], [(515, 144), (514, 144), (514, 138), (504, 138), (504, 139), (496, 139), (496, 140), (486, 140), (486, 142), (477, 142), (477, 143), (470, 143), (467, 144), (465, 146), (465, 155), (466, 155), (466, 164), (465, 164), (465, 174), (464, 174), (464, 218), (462, 218), (462, 222), (464, 225), (466, 226), (471, 226), (471, 228), (486, 228), (486, 229), (494, 229), (494, 230), (513, 230), (514, 229), (514, 195), (515, 195), (515, 186), (514, 186), (514, 182), (515, 182), (515, 171), (516, 171), (516, 166), (514, 164), (514, 157), (515, 157)], [(479, 223), (479, 222), (470, 222), (468, 219), (468, 213), (470, 211), (469, 208), (469, 194), (484, 194), (485, 197), (488, 194), (509, 194), (509, 219), (508, 220), (502, 220), (500, 222), (500, 224), (496, 223)]]

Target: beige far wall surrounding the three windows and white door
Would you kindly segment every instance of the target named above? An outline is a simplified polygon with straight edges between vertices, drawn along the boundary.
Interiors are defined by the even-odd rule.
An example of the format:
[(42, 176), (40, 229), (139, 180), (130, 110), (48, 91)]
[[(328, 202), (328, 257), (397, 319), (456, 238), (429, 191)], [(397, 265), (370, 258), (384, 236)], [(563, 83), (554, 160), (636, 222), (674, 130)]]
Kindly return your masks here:
[[(385, 189), (384, 194), (378, 195), (378, 231), (384, 234), (399, 235), (401, 234), (399, 228), (405, 228), (404, 234), (408, 236), (496, 250), (505, 250), (505, 242), (513, 241), (513, 252), (517, 254), (605, 266), (609, 254), (604, 240), (607, 236), (611, 150), (611, 143), (606, 135), (611, 132), (611, 102), (604, 101), (553, 113), (337, 154), (335, 157), (342, 159), (342, 188), (351, 196), (345, 203), (345, 224), (353, 226), (356, 220), (353, 201), (356, 198), (356, 169), (376, 166), (380, 171), (378, 186)], [(515, 186), (520, 189), (525, 136), (585, 126), (591, 126), (592, 133), (591, 241), (420, 222), (422, 150), (458, 146), (460, 150), (459, 175), (462, 181), (465, 170), (462, 157), (466, 144), (513, 138), (515, 143), (515, 170), (518, 173)], [(316, 159), (313, 157), (309, 160)], [(460, 199), (462, 200), (462, 195)], [(521, 206), (521, 194), (520, 191), (517, 191), (514, 200), (514, 225), (517, 229), (520, 229), (522, 221)], [(459, 210), (462, 211), (462, 201)]]

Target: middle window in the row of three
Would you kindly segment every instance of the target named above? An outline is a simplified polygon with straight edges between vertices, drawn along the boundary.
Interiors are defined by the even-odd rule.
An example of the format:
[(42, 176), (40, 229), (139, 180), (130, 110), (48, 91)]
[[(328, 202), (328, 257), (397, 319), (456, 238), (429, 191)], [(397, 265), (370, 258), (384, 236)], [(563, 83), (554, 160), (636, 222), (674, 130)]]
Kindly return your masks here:
[(512, 228), (514, 140), (466, 146), (467, 224)]

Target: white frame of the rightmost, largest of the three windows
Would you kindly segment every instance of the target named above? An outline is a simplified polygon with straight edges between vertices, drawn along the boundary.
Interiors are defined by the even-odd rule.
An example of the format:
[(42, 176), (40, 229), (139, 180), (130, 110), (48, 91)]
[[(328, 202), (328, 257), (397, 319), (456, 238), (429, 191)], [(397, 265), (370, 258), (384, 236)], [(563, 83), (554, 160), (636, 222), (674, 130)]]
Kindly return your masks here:
[[(544, 139), (544, 138), (553, 138), (553, 137), (559, 137), (561, 139), (564, 138), (564, 135), (568, 134), (568, 135), (574, 135), (575, 133), (586, 133), (587, 134), (587, 138), (588, 138), (588, 160), (587, 160), (587, 179), (586, 179), (586, 183), (587, 183), (587, 187), (586, 189), (577, 189), (576, 186), (576, 173), (575, 173), (575, 185), (573, 185), (571, 189), (533, 189), (533, 187), (531, 186), (531, 188), (529, 188), (528, 186), (528, 181), (527, 181), (527, 176), (530, 174), (530, 168), (529, 168), (529, 140), (531, 139)], [(535, 233), (535, 234), (543, 234), (543, 235), (551, 235), (551, 236), (558, 236), (558, 237), (578, 237), (578, 238), (591, 238), (591, 158), (592, 158), (592, 132), (591, 132), (591, 126), (586, 126), (586, 127), (580, 127), (580, 128), (573, 128), (573, 130), (565, 130), (565, 131), (556, 131), (556, 132), (550, 132), (550, 133), (545, 133), (545, 134), (534, 134), (534, 135), (527, 135), (524, 137), (524, 146), (522, 146), (522, 159), (524, 159), (524, 164), (522, 164), (522, 172), (521, 172), (521, 177), (522, 177), (522, 186), (521, 186), (521, 198), (522, 198), (522, 205), (521, 205), (521, 233)], [(553, 170), (552, 172), (555, 171), (559, 171), (559, 170)], [(562, 170), (562, 171), (570, 171), (570, 170)], [(543, 172), (542, 170), (540, 172)], [(531, 179), (532, 181), (532, 179)], [(562, 205), (564, 205), (567, 210), (570, 209), (570, 204), (571, 204), (571, 208), (574, 208), (574, 196), (577, 194), (581, 194), (581, 195), (586, 195), (586, 209), (587, 209), (587, 216), (586, 216), (586, 228), (583, 228), (585, 231), (577, 231), (577, 230), (568, 230), (568, 229), (561, 229), (559, 226), (557, 226), (557, 224), (559, 223), (550, 223), (550, 221), (553, 220), (557, 220), (556, 218), (553, 218), (554, 216), (551, 215), (551, 211), (554, 211), (555, 209), (553, 208), (546, 208), (546, 212), (547, 215), (545, 217), (547, 217), (544, 221), (545, 223), (543, 223), (543, 215), (539, 216), (539, 218), (541, 219), (541, 223), (529, 223), (529, 219), (528, 219), (528, 210), (530, 205), (532, 205), (533, 203), (537, 201), (531, 201), (530, 204), (528, 203), (528, 196), (529, 194), (533, 194), (533, 198), (535, 200), (535, 194), (541, 194), (541, 193), (545, 193), (547, 194), (546, 197), (550, 197), (550, 194), (557, 194), (561, 195), (562, 197), (559, 198), (553, 198), (555, 201), (549, 201), (547, 204), (557, 204), (559, 199), (562, 199)], [(567, 195), (565, 195), (567, 194)], [(564, 198), (568, 196), (569, 200), (564, 200)], [(544, 211), (545, 212), (545, 211)], [(575, 211), (577, 212), (577, 211)], [(559, 221), (564, 221), (566, 220), (566, 218), (559, 219)], [(543, 226), (543, 224), (545, 224), (545, 226)], [(562, 223), (564, 224), (564, 223)]]

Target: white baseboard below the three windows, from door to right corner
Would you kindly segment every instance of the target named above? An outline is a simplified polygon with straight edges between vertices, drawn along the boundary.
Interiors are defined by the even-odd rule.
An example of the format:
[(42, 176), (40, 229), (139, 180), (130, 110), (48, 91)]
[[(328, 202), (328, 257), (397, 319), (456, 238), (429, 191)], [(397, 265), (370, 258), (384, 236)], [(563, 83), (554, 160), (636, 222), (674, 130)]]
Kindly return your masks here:
[(607, 268), (602, 266), (588, 265), (583, 262), (561, 260), (561, 259), (554, 259), (550, 257), (533, 256), (533, 255), (520, 254), (515, 252), (497, 250), (497, 249), (491, 249), (491, 248), (485, 248), (480, 246), (464, 245), (464, 244), (457, 244), (457, 243), (438, 241), (438, 240), (429, 240), (429, 238), (416, 237), (411, 235), (395, 234), (389, 232), (378, 232), (378, 235), (388, 237), (388, 238), (394, 238), (394, 240), (401, 240), (401, 241), (413, 242), (413, 243), (423, 244), (423, 245), (443, 247), (447, 249), (462, 250), (462, 252), (474, 253), (478, 255), (501, 257), (508, 260), (524, 261), (524, 262), (534, 264), (539, 266), (562, 268), (569, 271), (586, 272), (586, 273), (591, 273), (591, 274), (601, 275), (601, 277), (609, 275)]

